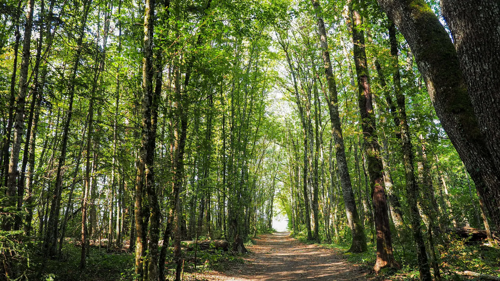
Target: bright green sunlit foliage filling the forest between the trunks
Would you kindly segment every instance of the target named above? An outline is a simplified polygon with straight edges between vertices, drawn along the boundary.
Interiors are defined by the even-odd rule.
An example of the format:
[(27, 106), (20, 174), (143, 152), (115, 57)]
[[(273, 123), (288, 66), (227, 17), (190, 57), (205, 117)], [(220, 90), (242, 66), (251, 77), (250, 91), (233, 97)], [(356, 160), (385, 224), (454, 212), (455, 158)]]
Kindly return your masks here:
[[(31, 40), (32, 61), (28, 69), (25, 110), (31, 108), (35, 76), (39, 82), (36, 86), (42, 90), (39, 106), (34, 106), (32, 112), (39, 115), (33, 151), (32, 203), (27, 203), (28, 190), (21, 186), (23, 194), (19, 208), (13, 203), (17, 196), (6, 196), (3, 185), (12, 141), (7, 140), (8, 124), (12, 121), (9, 115), (16, 105), (22, 49), (21, 38), (15, 65), (17, 70), (13, 71), (15, 24), (20, 24), (20, 34), (24, 24), (24, 16), (17, 15), (16, 7), (20, 4), (23, 8), (26, 3), (7, 0), (0, 5), (0, 123), (3, 128), (0, 145), (3, 229), (0, 230), (0, 252), (11, 252), (7, 258), (17, 266), (15, 274), (19, 276), (16, 277), (25, 270), (29, 277), (36, 273), (35, 278), (43, 276), (48, 280), (132, 279), (135, 277), (133, 256), (121, 252), (123, 249), (103, 253), (92, 245), (86, 260), (87, 269), (80, 271), (81, 248), (75, 247), (73, 241), (81, 236), (81, 201), (85, 193), (87, 159), (90, 194), (87, 194), (89, 210), (86, 222), (90, 224), (87, 230), (95, 231), (90, 237), (107, 238), (108, 228), (111, 228), (115, 239), (118, 225), (123, 226), (123, 242), (130, 238), (134, 223), (136, 167), (142, 139), (143, 3), (94, 1), (89, 6), (85, 26), (81, 26), (84, 1), (43, 1), (43, 9), (41, 0), (34, 2), (35, 31)], [(440, 16), (438, 2), (427, 2)], [(311, 242), (306, 240), (305, 219), (309, 218), (305, 217), (303, 194), (303, 173), (307, 169), (305, 196), (309, 198), (314, 171), (318, 174), (317, 239), (325, 243), (324, 246), (345, 251), (352, 237), (346, 223), (337, 174), (330, 116), (324, 97), (327, 81), (318, 44), (316, 14), (310, 1), (171, 0), (169, 3), (165, 8), (166, 1), (156, 1), (152, 56), (154, 75), (162, 73), (159, 100), (155, 104), (158, 115), (152, 167), (161, 227), (165, 226), (172, 208), (172, 177), (178, 172), (172, 167), (176, 156), (172, 149), (178, 141), (175, 134), (180, 122), (177, 110), (181, 104), (187, 119), (182, 159), (184, 173), (179, 196), (182, 239), (226, 238), (232, 241), (237, 234), (248, 245), (253, 243), (250, 237), (274, 231), (273, 218), (283, 215), (288, 218), (288, 228), (297, 239)], [(327, 28), (326, 40), (338, 91), (347, 165), (357, 211), (370, 239), (374, 235), (370, 217), (371, 191), (366, 184), (369, 176), (360, 140), (362, 132), (353, 71), (353, 46), (347, 13), (343, 10), (345, 4), (339, 0), (321, 1), (322, 10), (317, 15), (324, 19)], [(375, 0), (365, 1), (361, 13), (363, 23), (360, 28), (366, 34), (378, 142), (387, 164), (384, 172), (392, 178), (392, 192), (399, 200), (403, 215), (403, 225), (395, 227), (391, 224), (393, 248), (402, 269), (396, 274), (384, 272), (383, 275), (414, 279), (417, 277), (416, 257), (407, 227), (406, 180), (397, 137), (399, 124), (394, 123), (391, 104), (386, 98), (388, 96), (395, 102), (394, 67), (387, 33), (389, 22)], [(84, 34), (83, 42), (78, 45), (77, 30), (80, 28)], [(397, 46), (413, 153), (420, 155), (421, 148), (425, 150), (432, 190), (439, 208), (438, 223), (443, 229), (455, 225), (482, 228), (475, 186), (436, 117), (423, 77), (399, 33)], [(76, 57), (78, 51), (80, 55)], [(40, 61), (38, 70), (34, 65), (36, 58)], [(380, 75), (374, 67), (375, 61), (381, 66)], [(76, 77), (71, 80), (69, 77), (73, 71)], [(187, 81), (188, 71), (190, 79)], [(10, 81), (12, 74), (15, 75), (13, 83)], [(385, 81), (385, 86), (382, 81)], [(72, 87), (74, 100), (68, 122), (67, 155), (64, 164), (60, 165), (61, 134), (68, 116), (68, 93)], [(314, 97), (316, 92), (317, 98)], [(90, 100), (93, 121), (88, 133)], [(21, 143), (28, 135), (27, 113)], [(87, 138), (88, 147), (85, 145)], [(310, 146), (304, 148), (304, 140)], [(22, 153), (27, 156), (27, 150)], [(417, 157), (415, 167), (421, 159), (421, 156)], [(60, 231), (65, 227), (63, 257), (62, 260), (49, 258), (46, 267), (42, 267), (43, 250), (40, 249), (44, 246), (50, 210), (54, 208), (52, 192), (59, 165), (63, 191), (55, 228)], [(28, 172), (23, 170), (20, 174)], [(142, 195), (143, 211), (147, 213), (149, 198)], [(116, 206), (119, 206), (118, 213)], [(22, 218), (23, 225), (19, 229), (27, 225), (29, 209), (33, 213), (29, 235), (5, 226), (15, 216)], [(121, 213), (123, 222), (117, 218)], [(66, 222), (64, 217), (67, 217)], [(60, 232), (56, 234), (60, 235)], [(66, 243), (68, 240), (72, 242)], [(443, 271), (448, 275), (453, 270), (464, 269), (498, 275), (498, 263), (494, 261), (499, 258), (497, 249), (467, 245), (454, 239), (449, 245), (438, 242), (436, 248)], [(370, 266), (374, 258), (372, 242), (368, 249), (361, 254), (346, 253), (347, 258)], [(194, 252), (187, 252), (185, 257), (186, 271), (193, 271)], [(231, 262), (242, 262), (242, 259), (233, 253), (212, 249), (200, 251), (196, 262), (201, 270), (209, 270), (223, 268), (224, 264)], [(175, 267), (170, 250), (167, 267), (170, 271)], [(40, 274), (32, 273), (38, 269), (42, 271)]]

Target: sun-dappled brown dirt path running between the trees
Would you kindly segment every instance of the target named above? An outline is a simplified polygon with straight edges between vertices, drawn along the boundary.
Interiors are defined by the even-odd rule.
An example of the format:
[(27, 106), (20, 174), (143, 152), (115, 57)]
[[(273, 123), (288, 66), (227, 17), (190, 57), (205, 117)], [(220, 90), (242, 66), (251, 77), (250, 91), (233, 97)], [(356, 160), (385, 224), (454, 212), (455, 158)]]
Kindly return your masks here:
[(340, 252), (313, 244), (304, 244), (289, 232), (259, 235), (245, 264), (223, 274), (205, 275), (209, 280), (234, 281), (323, 281), (366, 280), (367, 272), (349, 263)]

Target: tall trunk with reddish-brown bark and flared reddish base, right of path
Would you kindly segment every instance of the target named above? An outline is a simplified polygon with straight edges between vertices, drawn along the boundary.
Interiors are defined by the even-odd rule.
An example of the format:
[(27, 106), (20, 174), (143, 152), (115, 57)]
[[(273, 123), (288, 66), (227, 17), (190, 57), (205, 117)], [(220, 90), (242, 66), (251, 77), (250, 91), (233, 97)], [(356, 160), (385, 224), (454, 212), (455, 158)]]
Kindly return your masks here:
[(376, 229), (376, 260), (373, 270), (378, 273), (384, 267), (399, 267), (392, 253), (392, 238), (387, 214), (387, 202), (383, 187), (383, 166), (380, 149), (377, 142), (375, 116), (371, 101), (371, 91), (364, 50), (364, 32), (361, 29), (361, 16), (358, 11), (359, 2), (349, 3), (350, 19), (352, 20), (352, 42), (354, 45), (354, 62), (356, 66), (358, 85), (358, 104), (363, 130), (364, 150), (368, 163), (371, 196), (373, 200), (374, 222)]

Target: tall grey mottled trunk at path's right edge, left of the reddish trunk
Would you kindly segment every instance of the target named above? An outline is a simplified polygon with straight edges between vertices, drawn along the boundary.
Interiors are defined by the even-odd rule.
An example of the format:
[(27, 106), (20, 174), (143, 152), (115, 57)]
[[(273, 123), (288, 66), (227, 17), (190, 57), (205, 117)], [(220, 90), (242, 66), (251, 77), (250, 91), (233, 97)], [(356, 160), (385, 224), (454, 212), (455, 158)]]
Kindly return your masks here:
[[(335, 77), (333, 76), (331, 68), (330, 54), (328, 52), (328, 43), (326, 40), (326, 30), (323, 18), (320, 16), (321, 7), (318, 0), (312, 0), (312, 6), (314, 7), (314, 11), (316, 13), (324, 73), (326, 76), (326, 85), (328, 87), (328, 93), (326, 93), (325, 90), (323, 90), (323, 93), (330, 113), (331, 135), (333, 136), (333, 140), (335, 142), (335, 158), (337, 160), (338, 174), (340, 176), (340, 186), (342, 187), (347, 224), (352, 234), (352, 243), (349, 251), (363, 252), (367, 250), (366, 235), (364, 234), (364, 229), (361, 224), (361, 220), (359, 219), (359, 214), (357, 213), (356, 201), (354, 198), (354, 192), (352, 191), (347, 159), (345, 157), (342, 129), (340, 127), (340, 118), (338, 116), (337, 88)], [(331, 177), (330, 180), (333, 181), (333, 177)]]

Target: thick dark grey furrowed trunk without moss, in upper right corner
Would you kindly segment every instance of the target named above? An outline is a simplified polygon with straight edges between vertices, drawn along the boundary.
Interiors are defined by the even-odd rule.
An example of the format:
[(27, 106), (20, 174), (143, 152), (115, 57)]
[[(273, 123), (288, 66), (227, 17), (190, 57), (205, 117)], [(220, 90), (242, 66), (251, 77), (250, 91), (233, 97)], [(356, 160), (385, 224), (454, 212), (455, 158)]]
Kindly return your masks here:
[[(490, 0), (442, 0), (477, 124), (500, 168), (500, 4)], [(498, 226), (498, 225), (497, 225)]]

